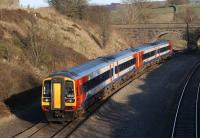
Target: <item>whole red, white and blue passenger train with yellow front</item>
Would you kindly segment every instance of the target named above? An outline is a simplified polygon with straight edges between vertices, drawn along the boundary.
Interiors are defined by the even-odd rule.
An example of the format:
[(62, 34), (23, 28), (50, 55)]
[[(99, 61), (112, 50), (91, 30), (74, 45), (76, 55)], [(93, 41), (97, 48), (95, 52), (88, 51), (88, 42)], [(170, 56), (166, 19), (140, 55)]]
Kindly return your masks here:
[(41, 106), (48, 121), (69, 121), (152, 63), (172, 55), (167, 40), (100, 57), (43, 81)]

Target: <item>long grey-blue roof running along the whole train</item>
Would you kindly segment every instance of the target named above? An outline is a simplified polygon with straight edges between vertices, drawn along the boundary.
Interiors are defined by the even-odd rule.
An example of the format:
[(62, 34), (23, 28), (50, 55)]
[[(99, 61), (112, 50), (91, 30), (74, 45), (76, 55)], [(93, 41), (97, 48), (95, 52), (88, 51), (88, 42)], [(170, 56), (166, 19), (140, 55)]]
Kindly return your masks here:
[(68, 71), (52, 73), (50, 77), (62, 75), (62, 76), (66, 76), (66, 77), (76, 80), (87, 74), (90, 74), (91, 72), (99, 70), (100, 68), (108, 66), (110, 63), (114, 62), (115, 60), (126, 58), (127, 56), (133, 55), (134, 53), (138, 51), (145, 50), (150, 47), (155, 47), (164, 43), (166, 43), (166, 41), (158, 41), (155, 43), (144, 44), (138, 48), (129, 48), (113, 55), (99, 57), (97, 59), (90, 60), (87, 63), (73, 67), (69, 69)]

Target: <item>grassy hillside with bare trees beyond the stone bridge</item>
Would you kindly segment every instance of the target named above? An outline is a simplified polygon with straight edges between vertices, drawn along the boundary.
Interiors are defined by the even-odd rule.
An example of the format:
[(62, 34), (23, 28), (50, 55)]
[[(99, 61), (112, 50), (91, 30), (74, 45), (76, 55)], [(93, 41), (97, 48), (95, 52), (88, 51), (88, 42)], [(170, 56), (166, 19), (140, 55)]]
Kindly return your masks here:
[[(111, 11), (112, 24), (134, 24), (134, 23), (172, 23), (174, 22), (174, 11), (173, 8), (166, 6), (154, 8), (151, 4), (143, 5), (146, 8), (142, 8), (141, 12), (144, 16), (140, 19), (137, 18), (137, 14), (141, 12), (133, 12), (136, 7), (133, 5), (122, 5), (119, 8)], [(130, 9), (130, 12), (129, 12)], [(132, 9), (132, 10), (131, 10)], [(193, 17), (192, 22), (199, 22), (200, 19), (200, 5), (199, 4), (184, 4), (176, 5), (176, 22), (185, 23), (184, 17), (186, 11), (190, 11)], [(132, 11), (132, 13), (131, 13)], [(137, 13), (137, 14), (136, 14)], [(143, 19), (143, 20), (142, 20)]]

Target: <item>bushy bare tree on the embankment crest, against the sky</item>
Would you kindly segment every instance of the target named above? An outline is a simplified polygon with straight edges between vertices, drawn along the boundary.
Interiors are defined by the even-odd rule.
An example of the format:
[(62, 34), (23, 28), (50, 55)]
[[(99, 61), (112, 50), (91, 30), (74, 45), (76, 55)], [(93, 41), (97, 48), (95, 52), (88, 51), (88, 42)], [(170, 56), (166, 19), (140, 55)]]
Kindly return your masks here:
[(88, 0), (48, 0), (48, 3), (68, 17), (83, 19)]

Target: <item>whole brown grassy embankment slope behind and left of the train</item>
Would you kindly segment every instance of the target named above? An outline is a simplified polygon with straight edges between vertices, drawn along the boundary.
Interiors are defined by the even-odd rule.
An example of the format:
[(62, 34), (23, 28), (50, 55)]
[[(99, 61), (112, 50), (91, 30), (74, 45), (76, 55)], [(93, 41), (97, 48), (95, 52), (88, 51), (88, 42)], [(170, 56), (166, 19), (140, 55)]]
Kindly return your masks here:
[[(0, 115), (9, 113), (4, 105), (7, 98), (32, 92), (50, 72), (127, 48), (112, 32), (108, 45), (102, 49), (98, 29), (81, 24), (52, 9), (0, 10)], [(30, 93), (26, 101), (34, 101), (40, 92), (33, 91), (37, 94)]]

